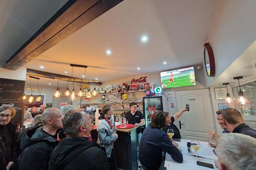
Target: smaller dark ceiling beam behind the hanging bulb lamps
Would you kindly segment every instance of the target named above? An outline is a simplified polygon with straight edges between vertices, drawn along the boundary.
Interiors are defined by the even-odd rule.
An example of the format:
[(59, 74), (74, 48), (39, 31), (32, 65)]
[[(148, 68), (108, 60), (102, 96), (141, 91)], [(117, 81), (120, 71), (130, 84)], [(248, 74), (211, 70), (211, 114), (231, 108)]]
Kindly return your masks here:
[[(65, 75), (61, 75), (61, 74), (55, 74), (55, 73), (49, 73), (49, 72), (45, 72), (45, 71), (39, 71), (39, 70), (33, 70), (33, 69), (29, 69), (27, 68), (26, 71), (27, 75), (30, 76), (37, 76), (37, 77), (44, 77), (44, 78), (48, 78), (48, 79), (55, 79), (55, 77), (64, 77), (64, 78), (76, 78), (76, 77), (70, 77), (70, 76), (65, 76)], [(79, 78), (76, 78), (79, 79)], [(62, 80), (62, 81), (66, 81), (66, 80)], [(82, 83), (82, 84), (88, 84), (88, 85), (102, 85), (102, 82), (83, 82), (83, 81), (76, 81), (77, 83)]]

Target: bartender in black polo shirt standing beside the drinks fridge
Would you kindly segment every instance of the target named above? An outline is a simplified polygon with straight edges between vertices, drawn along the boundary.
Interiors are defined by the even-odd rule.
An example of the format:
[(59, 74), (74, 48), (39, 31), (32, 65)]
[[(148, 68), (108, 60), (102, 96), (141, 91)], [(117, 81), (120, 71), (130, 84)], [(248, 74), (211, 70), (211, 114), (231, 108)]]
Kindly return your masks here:
[(137, 126), (137, 158), (139, 159), (139, 144), (140, 144), (140, 139), (142, 136), (141, 133), (141, 126), (145, 125), (145, 119), (143, 116), (143, 113), (140, 111), (137, 111), (137, 103), (131, 102), (130, 103), (130, 108), (131, 111), (128, 111), (125, 113), (125, 118), (128, 120), (129, 124), (133, 124), (134, 126)]

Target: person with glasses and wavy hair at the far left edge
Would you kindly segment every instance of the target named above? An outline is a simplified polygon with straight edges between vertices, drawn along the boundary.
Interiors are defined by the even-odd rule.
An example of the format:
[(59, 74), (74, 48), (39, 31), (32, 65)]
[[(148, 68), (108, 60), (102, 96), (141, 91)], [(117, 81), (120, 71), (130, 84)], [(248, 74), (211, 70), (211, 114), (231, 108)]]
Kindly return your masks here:
[(0, 107), (0, 169), (11, 167), (15, 160), (16, 125), (10, 122), (15, 114), (10, 106)]

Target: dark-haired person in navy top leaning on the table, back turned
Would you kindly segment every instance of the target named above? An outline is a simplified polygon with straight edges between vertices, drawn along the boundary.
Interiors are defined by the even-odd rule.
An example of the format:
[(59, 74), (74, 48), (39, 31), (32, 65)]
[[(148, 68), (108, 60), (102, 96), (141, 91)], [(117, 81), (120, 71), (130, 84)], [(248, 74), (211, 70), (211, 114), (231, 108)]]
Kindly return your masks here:
[(178, 144), (172, 142), (162, 128), (166, 125), (166, 116), (163, 111), (154, 113), (150, 126), (143, 131), (140, 140), (140, 162), (144, 170), (158, 170), (162, 162), (162, 152), (172, 156), (174, 161), (183, 162), (183, 156), (177, 149)]

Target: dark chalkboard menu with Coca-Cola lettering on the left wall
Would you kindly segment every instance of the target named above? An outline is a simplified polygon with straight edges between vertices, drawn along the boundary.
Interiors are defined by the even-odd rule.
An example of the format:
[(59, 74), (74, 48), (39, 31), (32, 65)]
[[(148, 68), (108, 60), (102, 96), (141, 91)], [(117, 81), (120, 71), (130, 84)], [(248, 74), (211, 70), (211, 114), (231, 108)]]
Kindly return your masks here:
[(15, 108), (16, 115), (11, 119), (15, 124), (23, 125), (23, 94), (25, 81), (0, 78), (0, 106)]

